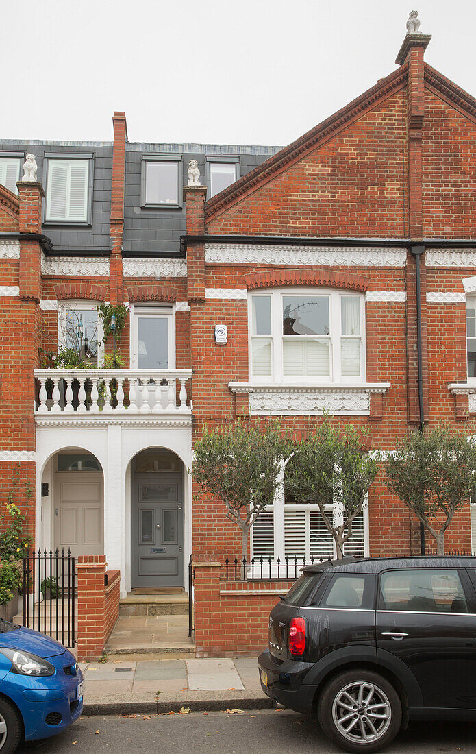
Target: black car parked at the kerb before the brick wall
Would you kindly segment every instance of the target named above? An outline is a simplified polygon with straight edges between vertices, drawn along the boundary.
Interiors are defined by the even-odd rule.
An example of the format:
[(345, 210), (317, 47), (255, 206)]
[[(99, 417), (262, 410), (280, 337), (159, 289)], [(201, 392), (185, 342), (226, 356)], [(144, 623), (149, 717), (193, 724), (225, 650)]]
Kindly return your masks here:
[(476, 720), (476, 557), (322, 562), (281, 600), (261, 686), (343, 749), (379, 751), (409, 720)]

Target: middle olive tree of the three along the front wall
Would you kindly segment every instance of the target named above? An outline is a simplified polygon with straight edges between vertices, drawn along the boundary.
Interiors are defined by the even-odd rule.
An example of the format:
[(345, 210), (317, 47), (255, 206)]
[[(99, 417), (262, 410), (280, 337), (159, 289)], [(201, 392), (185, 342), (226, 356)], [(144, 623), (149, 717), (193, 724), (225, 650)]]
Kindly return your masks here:
[[(377, 460), (365, 452), (366, 434), (368, 431), (357, 431), (353, 425), (334, 426), (324, 421), (295, 445), (286, 466), (286, 491), (298, 503), (319, 506), (338, 559), (343, 558), (353, 522), (362, 513), (377, 475)], [(334, 515), (329, 516), (325, 507), (332, 504)]]

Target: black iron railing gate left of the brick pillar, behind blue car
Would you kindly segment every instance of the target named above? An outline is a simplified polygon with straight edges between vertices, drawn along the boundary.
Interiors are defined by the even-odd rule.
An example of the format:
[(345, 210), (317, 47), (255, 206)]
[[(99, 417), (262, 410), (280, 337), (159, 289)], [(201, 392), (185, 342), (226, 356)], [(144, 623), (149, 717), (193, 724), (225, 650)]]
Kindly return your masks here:
[(76, 642), (76, 572), (71, 551), (23, 558), (23, 626), (67, 647)]

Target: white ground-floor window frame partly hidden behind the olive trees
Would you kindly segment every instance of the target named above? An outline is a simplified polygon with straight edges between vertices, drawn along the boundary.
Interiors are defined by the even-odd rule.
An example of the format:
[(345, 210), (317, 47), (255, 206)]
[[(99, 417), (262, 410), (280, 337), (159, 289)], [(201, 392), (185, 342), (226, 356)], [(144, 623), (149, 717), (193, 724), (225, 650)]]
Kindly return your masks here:
[[(289, 459), (288, 459), (289, 460)], [(264, 511), (267, 513), (273, 513), (273, 536), (274, 536), (274, 553), (273, 553), (273, 563), (276, 562), (276, 560), (279, 557), (281, 566), (285, 566), (285, 512), (288, 511), (292, 513), (293, 511), (305, 511), (308, 514), (309, 513), (317, 513), (319, 516), (321, 513), (319, 512), (319, 506), (313, 505), (313, 504), (286, 504), (285, 503), (285, 487), (284, 487), (284, 480), (285, 480), (285, 463), (282, 464), (281, 471), (279, 473), (279, 486), (276, 489), (275, 495), (274, 495), (274, 502), (273, 505), (268, 505), (266, 508), (264, 508)], [(328, 505), (325, 507), (325, 510), (328, 513), (334, 514), (334, 520), (337, 523), (340, 523), (342, 520), (340, 516), (339, 521), (339, 506), (338, 503), (334, 503), (332, 505)], [(368, 498), (365, 499), (363, 508), (363, 524), (364, 524), (364, 557), (369, 556), (369, 516), (368, 516)], [(259, 516), (258, 516), (259, 520)], [(307, 526), (307, 539), (309, 538), (309, 526)], [(331, 538), (331, 535), (329, 534), (329, 538)], [(310, 542), (307, 541), (307, 553), (306, 553), (306, 560), (307, 562), (310, 562)], [(344, 544), (343, 546), (344, 550), (344, 556), (346, 554), (346, 546)], [(250, 537), (250, 551), (251, 555), (253, 556), (254, 553), (254, 536), (253, 536), (253, 527)], [(297, 553), (289, 553), (290, 557), (294, 558), (294, 555)], [(301, 556), (302, 557), (302, 556)], [(334, 538), (332, 538), (332, 557), (333, 559), (337, 559), (337, 549), (336, 544), (334, 541)], [(292, 563), (294, 565), (294, 561)], [(302, 566), (298, 562), (298, 565)], [(291, 567), (291, 560), (289, 561), (289, 566)], [(282, 572), (281, 572), (282, 573)]]

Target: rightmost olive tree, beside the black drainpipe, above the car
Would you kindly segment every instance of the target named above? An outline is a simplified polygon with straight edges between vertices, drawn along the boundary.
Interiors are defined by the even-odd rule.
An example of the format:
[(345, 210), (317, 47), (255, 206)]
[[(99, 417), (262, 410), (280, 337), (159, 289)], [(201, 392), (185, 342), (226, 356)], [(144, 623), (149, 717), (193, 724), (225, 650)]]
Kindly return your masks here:
[(476, 446), (465, 434), (439, 426), (405, 437), (384, 461), (387, 486), (413, 510), (444, 554), (444, 535), (476, 483)]

